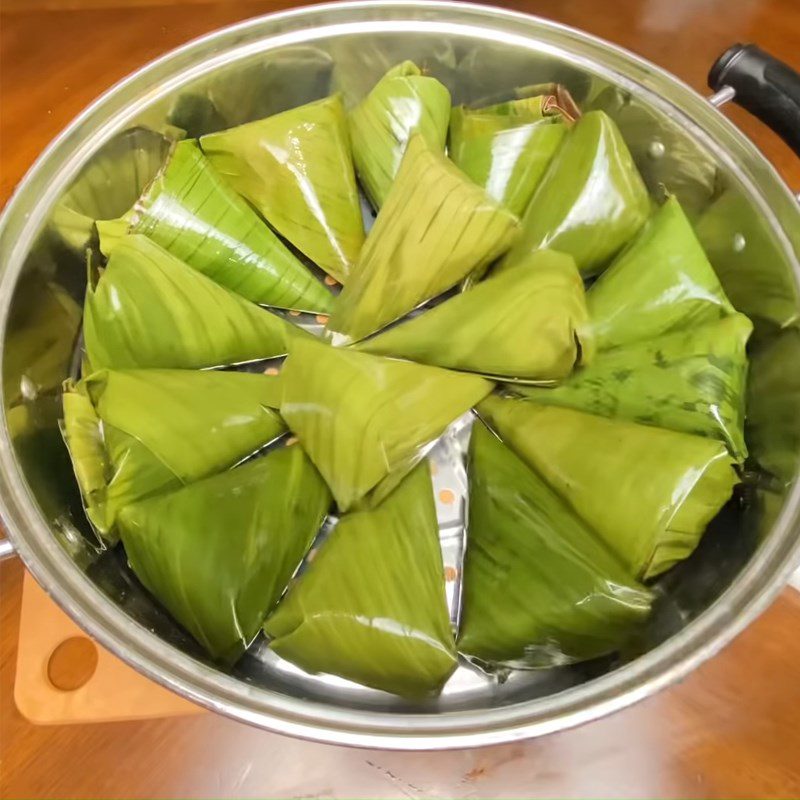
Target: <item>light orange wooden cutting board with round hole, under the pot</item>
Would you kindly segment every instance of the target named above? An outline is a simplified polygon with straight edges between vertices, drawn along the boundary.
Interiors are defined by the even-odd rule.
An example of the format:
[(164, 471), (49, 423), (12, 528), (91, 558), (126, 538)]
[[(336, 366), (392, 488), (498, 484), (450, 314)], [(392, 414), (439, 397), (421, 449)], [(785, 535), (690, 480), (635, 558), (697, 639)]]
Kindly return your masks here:
[(14, 700), (31, 722), (114, 722), (204, 713), (86, 634), (25, 573)]

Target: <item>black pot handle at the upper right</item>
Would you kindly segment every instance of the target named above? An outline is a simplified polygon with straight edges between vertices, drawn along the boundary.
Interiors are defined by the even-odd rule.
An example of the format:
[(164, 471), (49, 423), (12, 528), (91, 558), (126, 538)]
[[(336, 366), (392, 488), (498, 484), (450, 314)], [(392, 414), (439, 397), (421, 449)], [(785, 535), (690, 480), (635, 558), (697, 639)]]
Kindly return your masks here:
[(754, 44), (735, 44), (714, 63), (708, 85), (769, 125), (800, 156), (800, 74)]

